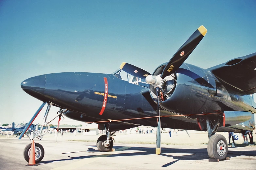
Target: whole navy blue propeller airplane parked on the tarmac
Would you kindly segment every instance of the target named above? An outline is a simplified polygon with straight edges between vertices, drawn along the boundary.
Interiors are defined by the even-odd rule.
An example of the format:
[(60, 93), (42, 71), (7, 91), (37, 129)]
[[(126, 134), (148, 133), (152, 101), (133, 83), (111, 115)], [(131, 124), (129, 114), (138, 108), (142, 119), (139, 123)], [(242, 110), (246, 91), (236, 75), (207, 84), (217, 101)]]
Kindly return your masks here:
[[(24, 80), (21, 88), (43, 101), (28, 125), (46, 103), (42, 125), (46, 125), (50, 107), (60, 107), (59, 120), (64, 114), (74, 120), (95, 122), (99, 130), (106, 130), (106, 135), (97, 140), (102, 152), (112, 149), (115, 131), (154, 126), (156, 154), (161, 153), (161, 128), (207, 131), (209, 157), (225, 160), (227, 140), (215, 133), (249, 134), (252, 139), (255, 129), (252, 114), (256, 104), (252, 94), (256, 92), (256, 53), (208, 69), (184, 63), (206, 33), (206, 28), (200, 26), (153, 74), (122, 63), (113, 74), (67, 72)], [(30, 139), (42, 139), (41, 134), (42, 130), (35, 130)], [(26, 161), (30, 147), (28, 144), (24, 150)], [(36, 148), (39, 163), (44, 151), (38, 143)]]

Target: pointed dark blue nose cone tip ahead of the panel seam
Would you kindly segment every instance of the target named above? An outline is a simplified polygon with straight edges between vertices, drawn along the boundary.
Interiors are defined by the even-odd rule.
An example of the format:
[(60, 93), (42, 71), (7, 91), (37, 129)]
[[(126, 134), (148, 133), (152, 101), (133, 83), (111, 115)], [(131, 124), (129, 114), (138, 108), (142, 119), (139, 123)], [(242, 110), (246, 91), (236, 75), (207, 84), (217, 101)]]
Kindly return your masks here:
[(31, 77), (21, 83), (21, 88), (29, 95), (40, 98), (44, 95), (46, 75)]

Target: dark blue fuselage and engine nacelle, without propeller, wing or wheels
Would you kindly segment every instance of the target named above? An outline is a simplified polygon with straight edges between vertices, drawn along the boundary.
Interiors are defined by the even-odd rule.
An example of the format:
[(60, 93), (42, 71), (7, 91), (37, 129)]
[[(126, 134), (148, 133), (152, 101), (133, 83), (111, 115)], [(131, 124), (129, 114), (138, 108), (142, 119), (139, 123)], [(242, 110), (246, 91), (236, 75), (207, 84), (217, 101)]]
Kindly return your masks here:
[[(200, 130), (194, 118), (204, 113), (256, 112), (256, 105), (250, 95), (232, 93), (205, 69), (184, 63), (176, 71), (176, 76), (174, 92), (170, 98), (160, 102), (161, 115), (190, 116), (162, 117), (162, 127)], [(67, 108), (65, 115), (74, 120), (120, 120), (120, 125), (113, 126), (113, 130), (157, 125), (157, 118), (134, 119), (157, 116), (156, 103), (149, 88), (129, 83), (113, 74), (53, 73), (28, 78), (21, 83), (21, 87), (43, 102)], [(154, 91), (152, 87), (151, 90)]]

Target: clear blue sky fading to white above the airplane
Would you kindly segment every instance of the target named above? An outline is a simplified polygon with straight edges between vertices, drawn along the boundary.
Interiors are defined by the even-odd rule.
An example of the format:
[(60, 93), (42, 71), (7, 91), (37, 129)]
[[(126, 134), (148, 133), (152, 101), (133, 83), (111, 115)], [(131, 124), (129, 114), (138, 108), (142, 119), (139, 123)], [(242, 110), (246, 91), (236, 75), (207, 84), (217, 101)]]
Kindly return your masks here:
[(152, 73), (200, 25), (208, 33), (186, 63), (209, 68), (254, 53), (255, 9), (253, 0), (0, 1), (0, 122), (28, 122), (42, 104), (20, 88), (26, 78), (111, 73), (122, 62)]

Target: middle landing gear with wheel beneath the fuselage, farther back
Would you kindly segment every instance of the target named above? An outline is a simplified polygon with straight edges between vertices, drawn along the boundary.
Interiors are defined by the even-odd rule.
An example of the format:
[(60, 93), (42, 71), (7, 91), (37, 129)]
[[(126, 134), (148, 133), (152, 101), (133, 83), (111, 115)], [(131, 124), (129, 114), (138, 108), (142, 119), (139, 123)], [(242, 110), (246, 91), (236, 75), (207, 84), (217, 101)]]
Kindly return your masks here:
[(100, 152), (108, 152), (111, 151), (114, 145), (113, 135), (115, 134), (109, 131), (106, 131), (106, 135), (101, 135), (97, 140), (97, 148)]

